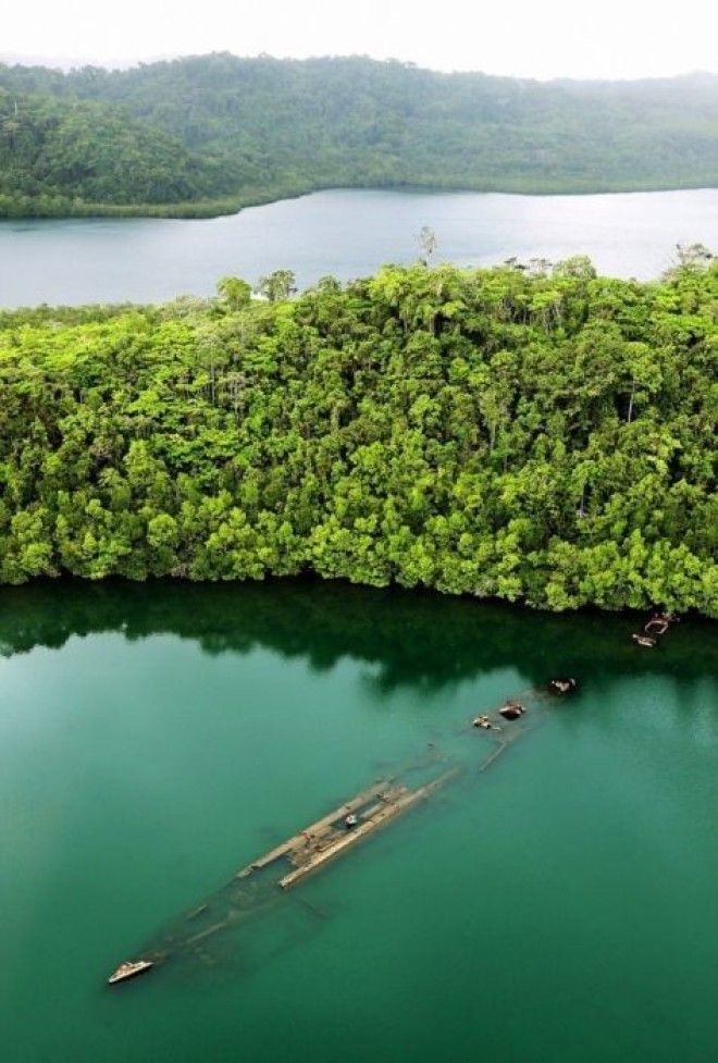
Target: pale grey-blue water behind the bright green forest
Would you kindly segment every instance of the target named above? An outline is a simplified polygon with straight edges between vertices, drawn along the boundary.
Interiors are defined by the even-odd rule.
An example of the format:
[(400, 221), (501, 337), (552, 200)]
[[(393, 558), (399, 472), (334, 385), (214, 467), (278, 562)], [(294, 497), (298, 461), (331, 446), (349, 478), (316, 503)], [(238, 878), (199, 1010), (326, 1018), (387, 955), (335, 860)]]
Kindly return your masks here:
[(219, 277), (280, 268), (306, 286), (417, 258), (430, 225), (440, 258), (587, 254), (609, 275), (655, 277), (677, 243), (718, 249), (718, 189), (599, 196), (334, 190), (205, 221), (0, 221), (0, 306), (153, 302), (209, 295)]

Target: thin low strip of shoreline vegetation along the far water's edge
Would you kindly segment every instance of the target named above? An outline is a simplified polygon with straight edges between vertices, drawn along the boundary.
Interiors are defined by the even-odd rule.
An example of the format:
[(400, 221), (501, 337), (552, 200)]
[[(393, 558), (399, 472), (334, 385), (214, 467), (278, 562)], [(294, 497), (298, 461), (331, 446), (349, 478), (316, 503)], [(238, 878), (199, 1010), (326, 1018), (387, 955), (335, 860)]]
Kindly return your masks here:
[(0, 207), (0, 220), (2, 221), (30, 221), (33, 219), (73, 219), (73, 218), (157, 218), (174, 219), (184, 221), (199, 221), (202, 219), (227, 218), (238, 214), (250, 207), (267, 207), (272, 203), (301, 199), (320, 191), (394, 191), (394, 193), (456, 193), (475, 195), (506, 195), (506, 196), (541, 196), (549, 198), (552, 196), (602, 196), (602, 195), (630, 195), (641, 193), (661, 193), (661, 191), (713, 191), (718, 189), (718, 184), (706, 185), (704, 183), (685, 182), (678, 184), (674, 181), (666, 183), (654, 182), (603, 182), (586, 184), (585, 182), (565, 182), (565, 183), (538, 183), (523, 186), (520, 182), (500, 182), (497, 184), (451, 184), (438, 185), (414, 184), (414, 183), (392, 183), (392, 184), (315, 184), (300, 185), (289, 188), (268, 188), (260, 191), (244, 191), (236, 197), (201, 200), (197, 202), (181, 203), (85, 203), (73, 202), (71, 200), (57, 202), (55, 205), (32, 203), (29, 200), (21, 205), (21, 211), (2, 209)]

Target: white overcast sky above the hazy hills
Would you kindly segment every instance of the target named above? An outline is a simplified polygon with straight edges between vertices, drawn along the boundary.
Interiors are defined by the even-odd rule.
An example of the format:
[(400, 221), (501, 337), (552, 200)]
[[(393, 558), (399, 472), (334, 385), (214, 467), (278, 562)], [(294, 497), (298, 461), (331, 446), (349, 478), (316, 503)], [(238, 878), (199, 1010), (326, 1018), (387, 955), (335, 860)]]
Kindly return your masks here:
[(5, 60), (128, 65), (231, 51), (537, 78), (718, 72), (713, 0), (0, 0), (0, 10)]

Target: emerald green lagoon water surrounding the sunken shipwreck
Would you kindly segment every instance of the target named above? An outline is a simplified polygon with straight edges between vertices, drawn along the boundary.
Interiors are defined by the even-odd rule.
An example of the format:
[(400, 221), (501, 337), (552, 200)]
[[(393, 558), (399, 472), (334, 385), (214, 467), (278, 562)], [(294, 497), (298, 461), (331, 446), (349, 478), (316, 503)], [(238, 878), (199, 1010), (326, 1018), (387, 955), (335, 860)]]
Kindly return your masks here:
[[(718, 629), (642, 652), (635, 623), (292, 582), (0, 591), (3, 1060), (715, 1058)], [(581, 694), (530, 696), (480, 774), (467, 720), (561, 672)], [(430, 743), (455, 782), (104, 986)]]

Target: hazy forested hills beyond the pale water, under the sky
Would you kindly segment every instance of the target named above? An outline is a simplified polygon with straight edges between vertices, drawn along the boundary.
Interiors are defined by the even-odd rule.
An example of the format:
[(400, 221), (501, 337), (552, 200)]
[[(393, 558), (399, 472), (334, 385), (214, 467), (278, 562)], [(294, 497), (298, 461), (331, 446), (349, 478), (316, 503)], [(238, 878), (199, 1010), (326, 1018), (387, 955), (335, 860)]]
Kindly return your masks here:
[(718, 76), (531, 82), (219, 53), (0, 65), (0, 215), (201, 215), (330, 186), (718, 185)]

